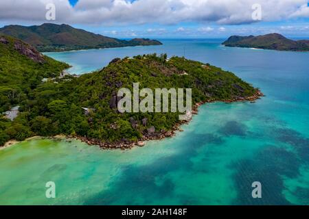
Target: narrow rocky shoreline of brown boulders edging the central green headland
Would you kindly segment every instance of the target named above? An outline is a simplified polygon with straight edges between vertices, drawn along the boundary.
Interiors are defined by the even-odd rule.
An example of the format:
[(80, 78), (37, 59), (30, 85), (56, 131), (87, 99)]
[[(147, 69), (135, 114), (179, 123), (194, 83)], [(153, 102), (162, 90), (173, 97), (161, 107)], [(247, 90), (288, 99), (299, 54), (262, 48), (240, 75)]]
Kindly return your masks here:
[[(192, 116), (198, 114), (198, 107), (205, 103), (214, 103), (214, 102), (223, 102), (223, 103), (233, 103), (233, 102), (243, 102), (243, 101), (250, 101), (251, 103), (255, 103), (257, 99), (260, 99), (264, 94), (260, 91), (257, 90), (257, 92), (253, 96), (248, 96), (246, 98), (242, 96), (237, 96), (235, 99), (229, 99), (225, 101), (218, 101), (218, 100), (207, 100), (207, 101), (201, 101), (199, 103), (196, 103), (193, 108), (192, 108)], [(190, 119), (192, 120), (192, 118)], [(174, 125), (172, 130), (170, 131), (160, 131), (160, 132), (155, 132), (155, 133), (145, 133), (144, 136), (138, 140), (137, 142), (130, 142), (127, 140), (122, 140), (119, 142), (101, 142), (100, 140), (95, 140), (95, 139), (90, 139), (87, 137), (73, 137), (73, 136), (67, 136), (68, 138), (73, 138), (76, 140), (80, 140), (82, 142), (87, 143), (88, 145), (96, 145), (99, 146), (101, 149), (121, 149), (121, 150), (126, 150), (126, 149), (132, 149), (135, 146), (145, 146), (147, 141), (150, 140), (163, 140), (164, 138), (171, 138), (172, 136), (176, 135), (176, 131), (182, 131), (180, 129), (181, 125), (188, 124), (190, 123), (190, 120), (179, 120), (179, 123)]]

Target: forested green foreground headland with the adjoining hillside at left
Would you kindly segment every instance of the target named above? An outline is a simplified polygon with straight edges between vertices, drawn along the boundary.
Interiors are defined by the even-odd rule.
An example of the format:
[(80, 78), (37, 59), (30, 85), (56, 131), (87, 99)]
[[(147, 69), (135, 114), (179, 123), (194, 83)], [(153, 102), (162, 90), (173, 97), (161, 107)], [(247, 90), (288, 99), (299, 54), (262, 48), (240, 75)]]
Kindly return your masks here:
[[(117, 91), (192, 88), (192, 114), (213, 101), (254, 101), (263, 94), (231, 72), (166, 54), (116, 58), (102, 70), (73, 77), (69, 65), (30, 44), (0, 36), (0, 145), (32, 136), (65, 135), (103, 149), (143, 146), (174, 134), (179, 113), (119, 113)], [(18, 106), (18, 108), (16, 108)], [(17, 111), (14, 118), (8, 112)], [(12, 114), (11, 114), (12, 116)]]

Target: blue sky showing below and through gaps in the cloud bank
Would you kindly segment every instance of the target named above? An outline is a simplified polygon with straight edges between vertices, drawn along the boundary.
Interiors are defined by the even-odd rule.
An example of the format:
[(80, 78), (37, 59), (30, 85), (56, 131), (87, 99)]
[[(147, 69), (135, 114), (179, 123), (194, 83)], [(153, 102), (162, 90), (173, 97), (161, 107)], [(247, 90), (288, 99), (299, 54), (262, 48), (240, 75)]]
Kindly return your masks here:
[[(135, 0), (130, 0), (135, 1)], [(76, 5), (78, 0), (69, 0), (72, 6)], [(309, 2), (307, 3), (309, 7)], [(131, 37), (131, 36), (154, 36), (154, 37), (226, 37), (230, 33), (235, 34), (266, 34), (270, 31), (282, 31), (288, 33), (289, 36), (307, 36), (307, 33), (299, 31), (299, 34), (295, 32), (297, 29), (302, 29), (309, 24), (309, 18), (299, 19), (284, 19), (282, 21), (273, 22), (261, 22), (251, 23), (249, 25), (217, 25), (216, 23), (210, 23), (203, 25), (201, 23), (190, 22), (190, 23), (178, 23), (174, 25), (161, 25), (151, 23), (147, 25), (131, 25), (130, 27), (105, 27), (104, 32), (100, 30), (100, 27), (91, 27), (90, 29), (95, 32), (101, 32), (108, 36), (120, 36), (120, 37)], [(82, 26), (81, 26), (82, 27)], [(84, 27), (87, 28), (87, 27)], [(303, 29), (304, 29), (303, 28)], [(217, 31), (216, 31), (217, 30)]]

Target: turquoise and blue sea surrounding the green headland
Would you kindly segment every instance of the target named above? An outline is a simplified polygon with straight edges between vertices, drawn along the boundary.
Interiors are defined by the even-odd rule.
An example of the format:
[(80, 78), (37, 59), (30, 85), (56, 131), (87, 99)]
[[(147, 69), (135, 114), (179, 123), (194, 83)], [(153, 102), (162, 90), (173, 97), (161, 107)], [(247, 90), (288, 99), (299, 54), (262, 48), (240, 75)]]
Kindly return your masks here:
[[(211, 103), (174, 138), (130, 151), (31, 140), (0, 151), (0, 204), (284, 205), (309, 203), (309, 53), (226, 48), (220, 40), (48, 53), (83, 73), (114, 57), (184, 55), (261, 88), (256, 103)], [(45, 183), (56, 198), (45, 198)], [(251, 184), (262, 183), (262, 198)]]

